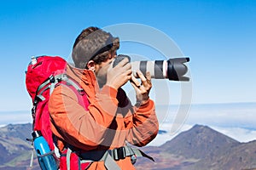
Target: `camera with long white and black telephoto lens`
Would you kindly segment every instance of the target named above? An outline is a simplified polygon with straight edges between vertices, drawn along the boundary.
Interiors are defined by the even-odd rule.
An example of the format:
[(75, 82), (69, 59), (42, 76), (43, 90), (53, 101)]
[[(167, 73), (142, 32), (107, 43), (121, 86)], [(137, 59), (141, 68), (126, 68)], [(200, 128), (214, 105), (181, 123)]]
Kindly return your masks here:
[[(119, 54), (113, 61), (113, 67), (117, 65), (122, 59), (129, 59), (131, 57), (124, 54)], [(131, 70), (134, 77), (137, 77), (137, 70), (146, 75), (148, 71), (151, 78), (154, 79), (169, 79), (170, 81), (184, 81), (188, 82), (189, 77), (184, 77), (188, 71), (187, 65), (184, 63), (189, 62), (189, 57), (174, 58), (168, 60), (151, 60), (151, 61), (133, 61), (131, 62)]]

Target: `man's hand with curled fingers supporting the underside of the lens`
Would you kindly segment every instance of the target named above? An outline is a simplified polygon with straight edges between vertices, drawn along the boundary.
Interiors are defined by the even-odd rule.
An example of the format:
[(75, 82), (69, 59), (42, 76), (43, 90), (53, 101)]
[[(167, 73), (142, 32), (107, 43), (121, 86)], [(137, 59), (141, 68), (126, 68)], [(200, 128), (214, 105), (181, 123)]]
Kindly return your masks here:
[(137, 102), (143, 105), (149, 99), (149, 92), (152, 88), (151, 76), (149, 72), (146, 72), (146, 77), (144, 77), (142, 71), (137, 71), (137, 75), (141, 82), (136, 77), (131, 76), (131, 85), (136, 91)]

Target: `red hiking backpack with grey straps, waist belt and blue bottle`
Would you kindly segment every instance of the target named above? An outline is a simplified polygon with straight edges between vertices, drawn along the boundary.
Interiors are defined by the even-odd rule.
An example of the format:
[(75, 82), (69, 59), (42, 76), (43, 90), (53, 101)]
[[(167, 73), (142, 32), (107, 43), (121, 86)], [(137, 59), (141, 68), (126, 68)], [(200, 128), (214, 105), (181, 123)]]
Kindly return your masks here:
[[(39, 56), (36, 58), (32, 57), (32, 62), (28, 65), (26, 71), (26, 89), (32, 98), (33, 104), (32, 141), (34, 148), (38, 151), (37, 146), (39, 145), (39, 147), (41, 147), (45, 143), (47, 147), (49, 147), (47, 153), (44, 153), (43, 155), (38, 154), (38, 163), (43, 170), (85, 169), (90, 166), (90, 162), (94, 160), (93, 156), (96, 154), (95, 151), (92, 151), (91, 154), (90, 152), (87, 152), (85, 157), (89, 159), (89, 161), (81, 160), (77, 153), (71, 149), (73, 146), (69, 146), (66, 150), (62, 150), (60, 156), (56, 156), (55, 154), (56, 139), (50, 128), (48, 110), (49, 96), (54, 88), (63, 85), (72, 89), (74, 94), (78, 97), (79, 105), (84, 106), (84, 109), (87, 111), (89, 106), (89, 101), (84, 89), (80, 88), (78, 82), (75, 82), (71, 77), (67, 76), (66, 66), (67, 62), (61, 57)], [(38, 140), (36, 141), (35, 136), (37, 139), (39, 138), (38, 136), (40, 136), (45, 140), (39, 140), (39, 142), (43, 141), (43, 143), (38, 144)], [(111, 156), (113, 158), (109, 158), (110, 153), (112, 153)], [(107, 150), (100, 161), (104, 161), (105, 166), (110, 167), (110, 169), (120, 169), (113, 160), (123, 159), (125, 156), (131, 156), (131, 161), (133, 163), (135, 163), (137, 156), (145, 156), (154, 161), (152, 157), (147, 156), (143, 151), (129, 146)]]

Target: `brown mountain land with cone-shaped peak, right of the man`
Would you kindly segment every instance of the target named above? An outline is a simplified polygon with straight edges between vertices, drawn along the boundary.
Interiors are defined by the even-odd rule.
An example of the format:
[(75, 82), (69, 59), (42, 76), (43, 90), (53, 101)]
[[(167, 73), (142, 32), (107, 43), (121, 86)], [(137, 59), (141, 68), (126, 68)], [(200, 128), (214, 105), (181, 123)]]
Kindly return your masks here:
[(207, 126), (195, 125), (159, 147), (144, 147), (155, 162), (141, 159), (138, 170), (256, 169), (256, 141), (240, 143)]

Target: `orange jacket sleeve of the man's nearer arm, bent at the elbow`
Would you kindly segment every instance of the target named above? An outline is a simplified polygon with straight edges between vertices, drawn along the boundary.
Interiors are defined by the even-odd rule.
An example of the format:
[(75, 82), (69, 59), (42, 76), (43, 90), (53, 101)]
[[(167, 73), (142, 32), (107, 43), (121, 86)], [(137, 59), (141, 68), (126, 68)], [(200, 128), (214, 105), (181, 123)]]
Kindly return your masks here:
[(53, 133), (83, 150), (96, 149), (115, 116), (116, 94), (116, 90), (104, 86), (86, 111), (73, 90), (62, 85), (56, 87), (49, 99)]

